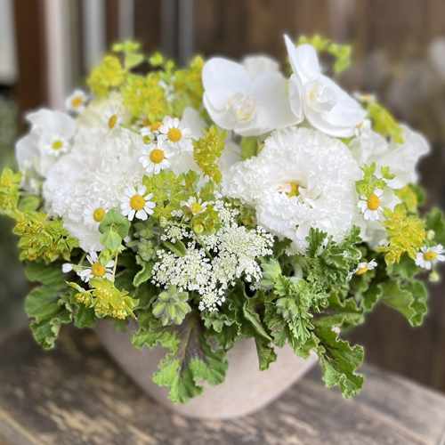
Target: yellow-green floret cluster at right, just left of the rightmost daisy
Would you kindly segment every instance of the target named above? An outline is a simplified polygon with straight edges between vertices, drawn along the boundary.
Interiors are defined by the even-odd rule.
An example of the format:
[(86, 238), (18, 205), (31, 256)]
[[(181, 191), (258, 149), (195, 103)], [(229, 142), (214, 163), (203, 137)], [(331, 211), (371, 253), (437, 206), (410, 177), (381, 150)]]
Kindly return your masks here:
[(386, 263), (398, 263), (403, 254), (415, 258), (417, 251), (425, 244), (425, 223), (417, 215), (407, 214), (406, 206), (401, 204), (394, 210), (386, 208), (384, 216), (389, 243), (379, 250), (384, 252)]

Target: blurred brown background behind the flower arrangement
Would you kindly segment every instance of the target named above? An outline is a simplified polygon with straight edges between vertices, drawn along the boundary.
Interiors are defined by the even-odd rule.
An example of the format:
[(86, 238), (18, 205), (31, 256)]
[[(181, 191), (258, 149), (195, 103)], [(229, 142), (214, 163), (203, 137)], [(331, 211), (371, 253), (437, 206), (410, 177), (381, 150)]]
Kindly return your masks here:
[[(443, 0), (0, 0), (0, 167), (26, 131), (23, 114), (62, 108), (110, 44), (134, 38), (181, 63), (193, 53), (283, 61), (283, 32), (320, 33), (353, 44), (354, 66), (339, 82), (375, 92), (424, 132), (427, 206), (445, 207), (445, 2)], [(0, 220), (0, 340), (23, 328), (27, 285), (10, 224)], [(422, 328), (378, 308), (352, 333), (367, 360), (445, 392), (445, 287), (431, 286)]]

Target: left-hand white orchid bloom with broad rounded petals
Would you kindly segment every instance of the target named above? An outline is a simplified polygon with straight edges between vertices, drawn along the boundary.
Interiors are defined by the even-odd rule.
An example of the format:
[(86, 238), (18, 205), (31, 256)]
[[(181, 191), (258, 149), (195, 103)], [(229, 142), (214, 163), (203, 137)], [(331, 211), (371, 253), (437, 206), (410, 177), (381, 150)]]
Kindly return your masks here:
[(204, 65), (203, 101), (214, 123), (243, 136), (294, 125), (297, 119), (288, 103), (285, 77), (273, 69), (252, 76), (259, 65), (247, 61), (249, 66), (219, 57)]

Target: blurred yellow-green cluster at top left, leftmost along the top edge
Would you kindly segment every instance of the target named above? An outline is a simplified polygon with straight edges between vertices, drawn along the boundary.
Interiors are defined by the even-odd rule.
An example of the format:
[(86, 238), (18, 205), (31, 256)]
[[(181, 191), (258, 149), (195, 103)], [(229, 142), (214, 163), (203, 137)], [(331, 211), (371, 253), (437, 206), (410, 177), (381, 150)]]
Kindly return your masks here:
[(101, 63), (93, 69), (87, 79), (91, 91), (98, 97), (103, 97), (112, 88), (117, 88), (125, 81), (125, 69), (115, 55), (107, 54)]

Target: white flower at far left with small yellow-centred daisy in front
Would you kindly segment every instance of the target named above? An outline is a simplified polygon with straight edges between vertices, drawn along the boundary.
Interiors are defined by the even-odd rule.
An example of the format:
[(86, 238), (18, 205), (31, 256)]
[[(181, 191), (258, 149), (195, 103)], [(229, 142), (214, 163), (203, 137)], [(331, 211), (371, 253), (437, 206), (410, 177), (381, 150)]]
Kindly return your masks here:
[(62, 153), (66, 153), (76, 134), (76, 121), (68, 114), (50, 109), (29, 113), (30, 132), (15, 146), (20, 171), (24, 174), (25, 187), (32, 191), (30, 180), (43, 179)]

